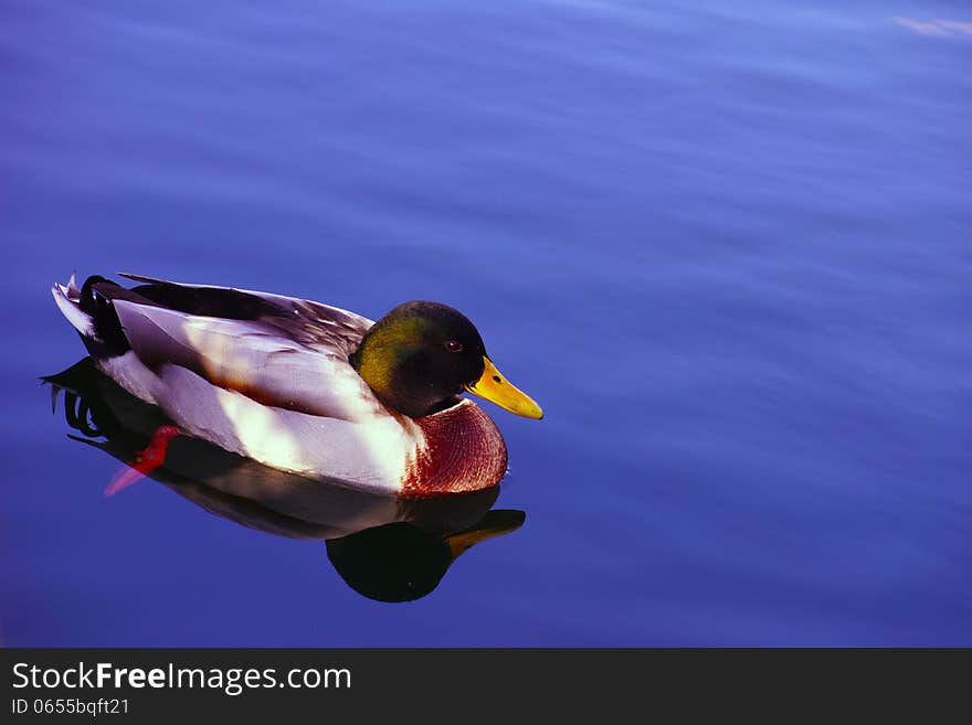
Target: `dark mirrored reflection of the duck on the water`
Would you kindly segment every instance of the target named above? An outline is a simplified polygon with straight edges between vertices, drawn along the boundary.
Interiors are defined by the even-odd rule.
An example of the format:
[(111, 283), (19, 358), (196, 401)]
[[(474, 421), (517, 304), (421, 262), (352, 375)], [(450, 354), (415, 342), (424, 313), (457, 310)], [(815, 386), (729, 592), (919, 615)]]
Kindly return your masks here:
[[(352, 589), (379, 601), (424, 597), (456, 558), (487, 539), (516, 531), (522, 511), (490, 510), (495, 486), (435, 499), (378, 495), (268, 468), (198, 438), (162, 441), (163, 457), (146, 466), (170, 422), (99, 372), (89, 358), (43, 379), (56, 409), (64, 394), (68, 437), (126, 465), (114, 488), (140, 470), (207, 511), (290, 539), (318, 539)], [(80, 435), (78, 435), (80, 434)], [(110, 487), (109, 487), (110, 488)]]

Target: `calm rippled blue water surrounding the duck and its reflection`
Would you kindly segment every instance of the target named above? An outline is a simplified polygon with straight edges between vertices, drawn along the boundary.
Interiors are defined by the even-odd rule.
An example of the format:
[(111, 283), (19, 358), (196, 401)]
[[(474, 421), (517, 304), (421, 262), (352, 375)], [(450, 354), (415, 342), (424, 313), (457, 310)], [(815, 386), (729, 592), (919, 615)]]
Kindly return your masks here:
[[(972, 644), (972, 12), (684, 4), (2, 0), (2, 642)], [(522, 525), (385, 604), (105, 499), (72, 269), (459, 308)]]

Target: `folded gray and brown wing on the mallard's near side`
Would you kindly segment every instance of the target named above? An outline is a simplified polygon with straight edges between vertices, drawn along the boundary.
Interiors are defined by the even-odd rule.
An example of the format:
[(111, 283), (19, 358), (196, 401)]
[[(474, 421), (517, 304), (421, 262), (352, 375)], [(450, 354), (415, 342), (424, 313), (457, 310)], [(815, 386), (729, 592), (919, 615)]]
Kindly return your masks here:
[[(348, 362), (371, 321), (309, 300), (147, 282), (114, 310), (135, 354), (149, 367), (178, 365), (265, 405), (344, 420), (384, 407)], [(110, 291), (110, 290), (106, 290)]]

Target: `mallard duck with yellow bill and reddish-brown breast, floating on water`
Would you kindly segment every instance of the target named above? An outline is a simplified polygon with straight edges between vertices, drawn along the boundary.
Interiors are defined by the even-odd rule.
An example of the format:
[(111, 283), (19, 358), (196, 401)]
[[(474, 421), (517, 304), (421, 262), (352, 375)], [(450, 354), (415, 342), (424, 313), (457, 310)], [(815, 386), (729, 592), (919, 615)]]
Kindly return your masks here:
[(469, 392), (540, 407), (496, 369), (475, 326), (430, 301), (377, 322), (329, 305), (124, 274), (54, 285), (98, 367), (180, 433), (265, 466), (404, 497), (475, 491), (506, 444)]

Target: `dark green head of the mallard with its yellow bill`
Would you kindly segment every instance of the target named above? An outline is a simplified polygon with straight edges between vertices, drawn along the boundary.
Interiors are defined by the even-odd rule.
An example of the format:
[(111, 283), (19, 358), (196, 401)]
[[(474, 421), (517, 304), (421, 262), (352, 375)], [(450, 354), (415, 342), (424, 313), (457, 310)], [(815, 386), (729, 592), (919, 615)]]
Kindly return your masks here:
[(527, 418), (543, 412), (500, 374), (476, 327), (439, 302), (399, 305), (364, 334), (351, 365), (389, 408), (418, 418), (469, 392)]

